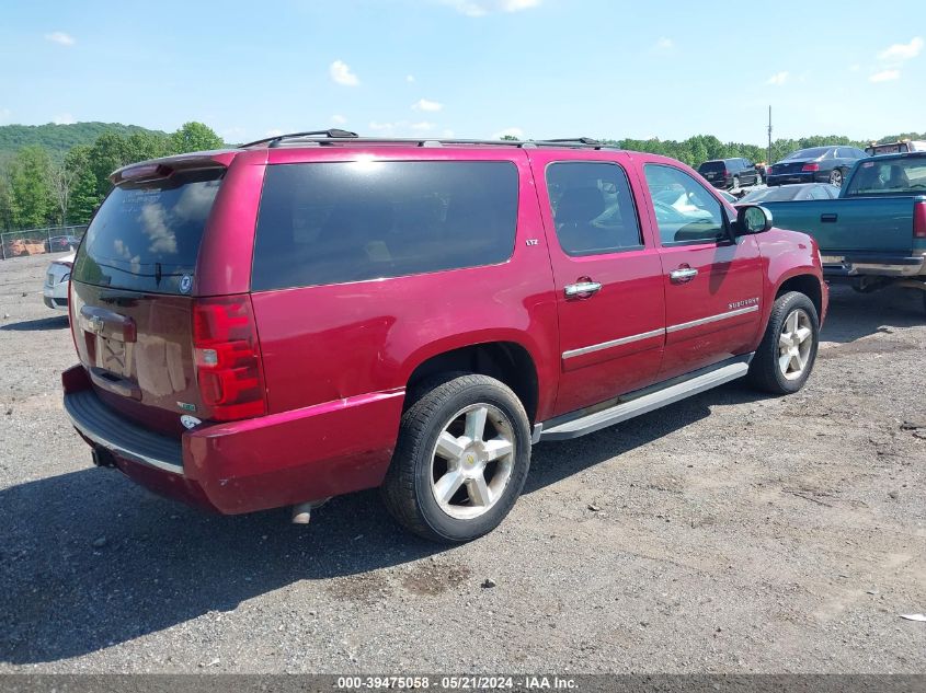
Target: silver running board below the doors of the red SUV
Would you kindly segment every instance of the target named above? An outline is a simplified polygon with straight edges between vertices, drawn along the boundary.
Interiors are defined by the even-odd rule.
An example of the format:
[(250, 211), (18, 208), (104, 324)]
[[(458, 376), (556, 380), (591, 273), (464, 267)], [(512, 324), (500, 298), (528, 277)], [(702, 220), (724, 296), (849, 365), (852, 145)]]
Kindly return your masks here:
[[(550, 428), (544, 428), (542, 424), (538, 424), (534, 431), (535, 442), (538, 440), (569, 440), (595, 432), (620, 421), (626, 421), (635, 416), (647, 414), (667, 404), (674, 404), (691, 395), (717, 388), (731, 380), (742, 378), (748, 370), (748, 362), (739, 361), (736, 363), (729, 363), (728, 366), (710, 370), (690, 380), (667, 385), (655, 392), (650, 392), (629, 402), (621, 402), (594, 414), (581, 416), (562, 424), (556, 424)], [(537, 430), (537, 428), (540, 430)]]

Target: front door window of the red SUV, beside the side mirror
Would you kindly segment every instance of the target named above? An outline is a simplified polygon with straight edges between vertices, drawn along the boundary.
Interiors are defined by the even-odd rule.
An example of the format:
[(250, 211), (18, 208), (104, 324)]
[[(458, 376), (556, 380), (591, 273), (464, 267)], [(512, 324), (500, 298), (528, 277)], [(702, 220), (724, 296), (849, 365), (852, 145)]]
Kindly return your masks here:
[(722, 206), (700, 183), (662, 164), (647, 164), (644, 172), (663, 245), (717, 243), (727, 238)]

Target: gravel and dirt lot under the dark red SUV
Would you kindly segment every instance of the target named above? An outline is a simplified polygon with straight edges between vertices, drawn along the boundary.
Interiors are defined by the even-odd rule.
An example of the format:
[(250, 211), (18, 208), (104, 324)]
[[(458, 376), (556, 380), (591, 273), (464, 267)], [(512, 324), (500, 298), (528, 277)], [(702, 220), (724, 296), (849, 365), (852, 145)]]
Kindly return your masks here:
[(0, 263), (0, 672), (926, 672), (917, 296), (834, 291), (797, 395), (538, 446), (507, 521), (445, 550), (376, 493), (300, 528), (93, 469), (47, 262)]

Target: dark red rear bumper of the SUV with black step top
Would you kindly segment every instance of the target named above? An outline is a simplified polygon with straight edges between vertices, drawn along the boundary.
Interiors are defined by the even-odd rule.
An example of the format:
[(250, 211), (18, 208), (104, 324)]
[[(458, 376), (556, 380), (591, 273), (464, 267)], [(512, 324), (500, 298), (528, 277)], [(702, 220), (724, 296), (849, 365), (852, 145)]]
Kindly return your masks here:
[(398, 436), (404, 390), (370, 393), (178, 438), (104, 404), (82, 367), (65, 371), (65, 412), (78, 432), (150, 490), (224, 515), (379, 486)]

